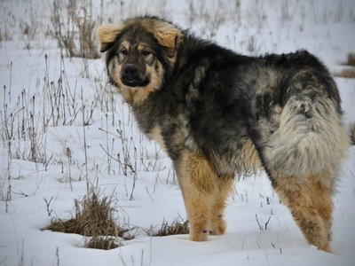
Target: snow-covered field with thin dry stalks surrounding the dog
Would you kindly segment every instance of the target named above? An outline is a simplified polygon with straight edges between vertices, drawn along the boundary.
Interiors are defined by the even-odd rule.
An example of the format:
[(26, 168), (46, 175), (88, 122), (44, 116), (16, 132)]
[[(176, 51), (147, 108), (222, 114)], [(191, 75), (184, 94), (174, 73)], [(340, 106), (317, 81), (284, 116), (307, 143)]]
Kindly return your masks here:
[[(170, 160), (138, 132), (101, 59), (61, 57), (50, 34), (54, 2), (0, 3), (0, 265), (355, 265), (354, 146), (335, 195), (330, 254), (307, 244), (264, 174), (235, 184), (225, 235), (201, 243), (147, 236), (163, 220), (185, 219)], [(93, 10), (104, 8), (104, 21), (149, 12), (244, 54), (307, 49), (331, 72), (355, 52), (351, 0), (103, 2)], [(345, 122), (354, 122), (355, 79), (335, 81)], [(80, 235), (41, 230), (70, 218), (87, 184), (114, 195), (117, 223), (134, 227), (135, 239), (104, 251), (84, 248)], [(262, 227), (270, 218), (266, 230), (256, 217)]]

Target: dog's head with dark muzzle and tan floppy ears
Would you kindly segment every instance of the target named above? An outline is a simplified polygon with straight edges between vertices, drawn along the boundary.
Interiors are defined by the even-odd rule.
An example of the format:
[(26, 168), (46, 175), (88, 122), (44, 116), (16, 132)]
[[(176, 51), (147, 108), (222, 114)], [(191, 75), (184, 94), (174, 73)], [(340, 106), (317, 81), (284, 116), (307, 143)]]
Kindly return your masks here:
[(110, 81), (135, 105), (161, 88), (175, 63), (182, 33), (170, 22), (143, 17), (99, 27), (98, 37)]

